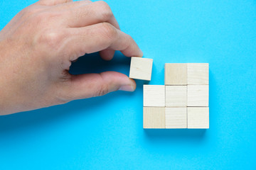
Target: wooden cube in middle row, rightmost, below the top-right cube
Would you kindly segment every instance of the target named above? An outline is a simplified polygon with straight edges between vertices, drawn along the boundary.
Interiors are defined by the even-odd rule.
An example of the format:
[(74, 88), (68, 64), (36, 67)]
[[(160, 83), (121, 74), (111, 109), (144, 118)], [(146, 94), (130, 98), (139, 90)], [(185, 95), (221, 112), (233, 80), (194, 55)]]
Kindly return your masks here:
[(188, 85), (188, 106), (209, 106), (209, 85)]

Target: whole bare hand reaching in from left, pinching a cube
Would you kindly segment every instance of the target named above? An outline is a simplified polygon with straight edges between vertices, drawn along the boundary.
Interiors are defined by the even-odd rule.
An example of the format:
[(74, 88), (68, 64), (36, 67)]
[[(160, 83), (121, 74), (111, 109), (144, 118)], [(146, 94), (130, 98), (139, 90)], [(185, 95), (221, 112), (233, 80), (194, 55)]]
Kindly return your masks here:
[(82, 55), (111, 60), (115, 50), (143, 55), (104, 1), (41, 0), (24, 8), (0, 32), (0, 115), (134, 91), (134, 80), (119, 72), (68, 72)]

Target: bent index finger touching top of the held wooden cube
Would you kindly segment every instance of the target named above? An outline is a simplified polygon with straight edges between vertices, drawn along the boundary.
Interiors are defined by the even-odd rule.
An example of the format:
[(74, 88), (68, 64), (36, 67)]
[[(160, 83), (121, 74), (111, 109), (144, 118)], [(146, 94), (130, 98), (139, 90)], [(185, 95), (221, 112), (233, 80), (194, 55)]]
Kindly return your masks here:
[(67, 52), (69, 56), (80, 57), (75, 54), (98, 52), (107, 48), (119, 50), (127, 57), (143, 56), (132, 37), (114, 28), (110, 23), (69, 29), (70, 36), (64, 46), (64, 50), (69, 50), (70, 53)]

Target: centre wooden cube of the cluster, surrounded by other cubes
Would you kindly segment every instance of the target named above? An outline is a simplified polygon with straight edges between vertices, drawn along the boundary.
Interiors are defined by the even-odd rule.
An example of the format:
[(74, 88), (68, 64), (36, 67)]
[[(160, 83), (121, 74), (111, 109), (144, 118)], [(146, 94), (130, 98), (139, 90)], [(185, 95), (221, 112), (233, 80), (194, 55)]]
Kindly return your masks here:
[(187, 86), (166, 86), (166, 107), (186, 107)]

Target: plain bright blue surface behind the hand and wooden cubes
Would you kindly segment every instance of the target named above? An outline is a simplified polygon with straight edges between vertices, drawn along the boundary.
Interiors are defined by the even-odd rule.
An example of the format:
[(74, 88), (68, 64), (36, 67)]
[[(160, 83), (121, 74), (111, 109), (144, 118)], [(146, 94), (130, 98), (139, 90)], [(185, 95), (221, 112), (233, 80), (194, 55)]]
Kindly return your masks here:
[[(30, 1), (0, 1), (0, 28)], [(143, 130), (134, 93), (0, 117), (0, 169), (256, 169), (256, 1), (107, 1), (122, 30), (154, 59), (210, 63), (209, 130)], [(119, 71), (129, 58), (81, 57), (74, 74)], [(21, 70), (22, 71), (22, 70)]]

